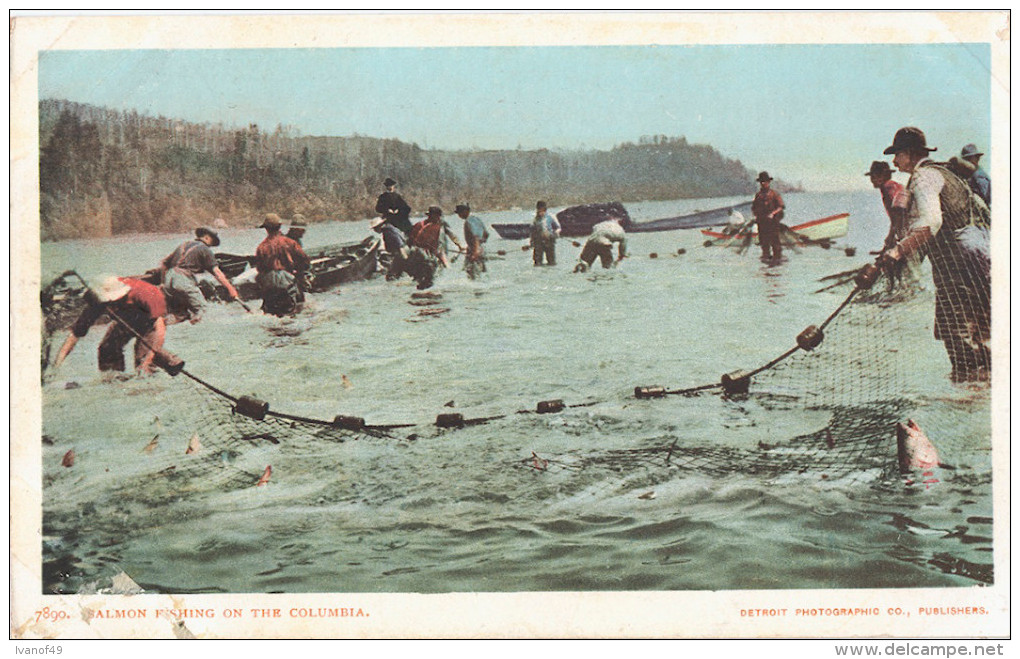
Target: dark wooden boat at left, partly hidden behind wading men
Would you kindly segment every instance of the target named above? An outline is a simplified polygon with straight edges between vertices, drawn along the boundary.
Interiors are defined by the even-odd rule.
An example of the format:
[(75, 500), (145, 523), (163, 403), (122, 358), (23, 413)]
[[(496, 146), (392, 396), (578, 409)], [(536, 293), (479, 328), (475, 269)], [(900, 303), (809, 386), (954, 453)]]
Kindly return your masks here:
[[(369, 236), (360, 243), (327, 245), (308, 250), (310, 265), (304, 277), (304, 290), (321, 293), (341, 284), (366, 278), (378, 266), (380, 241)], [(255, 284), (255, 257), (238, 254), (217, 253), (216, 262), (223, 274), (231, 280), (242, 300), (259, 297)], [(218, 283), (209, 278), (199, 282), (206, 298), (226, 299), (226, 292)]]

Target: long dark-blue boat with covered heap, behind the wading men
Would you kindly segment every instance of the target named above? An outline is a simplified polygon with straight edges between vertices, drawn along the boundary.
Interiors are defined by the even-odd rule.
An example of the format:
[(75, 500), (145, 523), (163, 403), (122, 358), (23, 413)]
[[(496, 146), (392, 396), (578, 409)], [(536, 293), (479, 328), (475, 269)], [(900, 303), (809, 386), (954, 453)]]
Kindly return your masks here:
[[(560, 235), (568, 238), (588, 236), (592, 227), (607, 219), (619, 219), (623, 231), (628, 234), (651, 232), (672, 232), (681, 229), (701, 229), (703, 226), (718, 226), (725, 224), (731, 212), (747, 212), (751, 210), (751, 202), (732, 206), (721, 206), (711, 210), (701, 210), (675, 217), (663, 217), (647, 222), (635, 222), (630, 218), (627, 209), (620, 202), (606, 204), (583, 204), (564, 208), (556, 214), (560, 222)], [(493, 231), (507, 240), (526, 240), (530, 238), (530, 223), (496, 223)]]

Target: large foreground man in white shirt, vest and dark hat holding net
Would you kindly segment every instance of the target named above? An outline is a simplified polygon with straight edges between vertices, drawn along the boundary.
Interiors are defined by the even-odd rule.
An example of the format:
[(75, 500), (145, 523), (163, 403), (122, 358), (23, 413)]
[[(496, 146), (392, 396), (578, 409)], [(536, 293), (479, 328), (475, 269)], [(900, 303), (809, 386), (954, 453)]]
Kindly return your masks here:
[(945, 344), (953, 382), (981, 382), (991, 371), (991, 259), (987, 206), (965, 181), (928, 155), (924, 133), (897, 131), (884, 151), (910, 174), (907, 235), (876, 263), (888, 270), (927, 253), (935, 285), (935, 339)]

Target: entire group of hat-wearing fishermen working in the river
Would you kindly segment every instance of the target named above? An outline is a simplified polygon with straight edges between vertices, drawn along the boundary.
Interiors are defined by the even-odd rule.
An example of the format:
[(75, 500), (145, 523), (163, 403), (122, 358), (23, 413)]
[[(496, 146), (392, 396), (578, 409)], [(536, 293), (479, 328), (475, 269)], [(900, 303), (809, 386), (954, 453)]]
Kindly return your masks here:
[[(944, 342), (956, 382), (987, 379), (990, 374), (990, 182), (978, 166), (983, 155), (974, 145), (964, 147), (959, 158), (935, 162), (929, 154), (924, 133), (907, 126), (896, 133), (892, 145), (884, 150), (892, 163), (909, 173), (906, 187), (892, 181), (884, 161), (875, 161), (866, 175), (881, 191), (889, 216), (889, 232), (878, 253), (876, 265), (890, 277), (900, 277), (907, 267), (916, 269), (925, 256), (932, 265), (935, 286), (935, 339)], [(780, 220), (784, 204), (772, 190), (772, 178), (762, 171), (760, 190), (752, 203), (764, 258), (781, 258)], [(432, 286), (438, 267), (449, 267), (446, 239), (465, 254), (465, 269), (472, 278), (486, 271), (484, 243), (489, 232), (471, 214), (470, 206), (458, 204), (455, 212), (463, 220), (465, 245), (443, 219), (439, 206), (429, 206), (425, 217), (412, 224), (410, 205), (396, 192), (397, 182), (387, 179), (386, 192), (378, 197), (379, 217), (371, 229), (382, 237), (392, 257), (387, 278), (408, 273), (418, 289)], [(255, 251), (256, 284), (262, 294), (263, 310), (286, 315), (300, 308), (304, 300), (302, 274), (310, 261), (301, 246), (304, 218), (295, 216), (288, 235), (282, 219), (265, 215), (259, 225), (266, 238)], [(536, 266), (556, 264), (556, 241), (560, 224), (544, 201), (536, 205), (529, 244)], [(613, 259), (613, 244), (618, 258)], [(199, 227), (195, 239), (177, 247), (163, 259), (160, 286), (132, 277), (107, 277), (90, 290), (89, 305), (71, 327), (54, 367), (58, 367), (78, 340), (106, 312), (111, 323), (99, 347), (100, 370), (124, 370), (123, 349), (132, 339), (135, 365), (140, 371), (154, 369), (153, 359), (162, 348), (166, 333), (164, 316), (184, 317), (197, 322), (205, 304), (197, 275), (209, 272), (225, 289), (231, 300), (238, 291), (217, 265), (211, 248), (219, 237), (208, 227)], [(584, 244), (574, 271), (585, 271), (595, 260), (610, 267), (626, 256), (626, 235), (620, 222), (609, 219), (595, 224)], [(247, 307), (246, 307), (247, 308)]]

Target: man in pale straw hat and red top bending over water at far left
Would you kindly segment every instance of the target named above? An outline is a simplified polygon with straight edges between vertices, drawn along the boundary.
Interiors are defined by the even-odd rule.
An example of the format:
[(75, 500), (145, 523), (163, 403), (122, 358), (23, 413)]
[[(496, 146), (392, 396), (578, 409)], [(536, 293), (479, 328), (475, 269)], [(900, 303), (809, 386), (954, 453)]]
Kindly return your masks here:
[[(99, 370), (123, 371), (124, 347), (135, 340), (135, 368), (141, 373), (155, 370), (152, 360), (163, 347), (166, 338), (166, 301), (158, 287), (131, 277), (102, 277), (98, 286), (90, 287), (86, 295), (88, 306), (71, 326), (70, 334), (53, 360), (58, 368), (70, 354), (79, 339), (104, 314), (112, 322), (99, 344)], [(141, 340), (138, 337), (142, 337)]]

